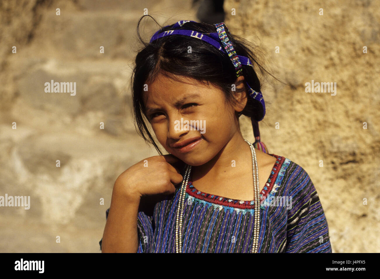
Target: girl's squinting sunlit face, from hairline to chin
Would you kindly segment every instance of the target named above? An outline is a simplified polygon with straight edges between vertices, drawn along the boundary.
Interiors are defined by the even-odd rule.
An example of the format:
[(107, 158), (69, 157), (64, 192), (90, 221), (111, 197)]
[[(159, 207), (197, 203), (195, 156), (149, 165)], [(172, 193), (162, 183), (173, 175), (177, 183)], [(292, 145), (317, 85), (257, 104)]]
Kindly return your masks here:
[[(205, 164), (240, 133), (235, 108), (225, 103), (224, 94), (217, 87), (182, 76), (169, 78), (159, 74), (144, 94), (146, 116), (157, 140), (186, 164)], [(246, 101), (246, 97), (241, 100), (242, 107), (237, 111), (244, 108)], [(190, 150), (181, 151), (174, 146), (189, 139), (199, 142)]]

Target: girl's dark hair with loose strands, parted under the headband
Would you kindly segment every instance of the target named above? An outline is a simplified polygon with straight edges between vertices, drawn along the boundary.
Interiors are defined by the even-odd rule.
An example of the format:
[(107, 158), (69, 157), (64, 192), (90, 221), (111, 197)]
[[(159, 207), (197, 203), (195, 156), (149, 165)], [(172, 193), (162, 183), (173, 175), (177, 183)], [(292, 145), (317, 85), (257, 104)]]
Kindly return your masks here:
[[(136, 55), (135, 67), (132, 72), (131, 88), (133, 110), (135, 123), (137, 123), (136, 131), (145, 141), (153, 144), (158, 153), (162, 155), (147, 128), (146, 121), (144, 120), (145, 117), (148, 121), (145, 115), (143, 99), (144, 84), (153, 82), (158, 74), (164, 74), (167, 76), (169, 74), (186, 76), (198, 80), (204, 84), (208, 84), (210, 82), (223, 91), (227, 102), (236, 104), (236, 99), (231, 91), (231, 85), (235, 84), (237, 77), (233, 63), (228, 55), (200, 39), (184, 35), (172, 35), (164, 36), (153, 41), (152, 43), (145, 42), (139, 33), (140, 22), (145, 16), (149, 15), (144, 15), (139, 19), (136, 29), (138, 38), (144, 46)], [(155, 19), (154, 21), (157, 23)], [(168, 27), (160, 26), (161, 29), (159, 33), (166, 30), (171, 30), (173, 25), (174, 24), (169, 25)], [(182, 25), (182, 27), (177, 29), (195, 30), (200, 33), (216, 32), (215, 25), (204, 22), (186, 22)], [(250, 44), (240, 36), (232, 35), (229, 32), (226, 33), (228, 34), (228, 38), (233, 44), (233, 47), (238, 55), (248, 57), (253, 66), (256, 64), (260, 67), (262, 74), (264, 74), (263, 71), (268, 73), (268, 71), (266, 71), (257, 62), (258, 59), (256, 55), (250, 50), (251, 48), (256, 52), (259, 52), (256, 47), (250, 46)], [(192, 47), (192, 53), (190, 54), (187, 51), (188, 46)], [(242, 65), (242, 69), (244, 79), (248, 82), (250, 87), (252, 87), (255, 91), (261, 91), (261, 83), (253, 67)], [(238, 84), (236, 84), (236, 87)], [(249, 90), (245, 85), (245, 82), (244, 89), (247, 91), (247, 94), (249, 94)], [(242, 90), (236, 88), (237, 92), (241, 92)], [(255, 137), (257, 137), (260, 136), (260, 132), (258, 132), (258, 122), (256, 120), (262, 117), (263, 111), (258, 101), (254, 100), (250, 96), (247, 97), (248, 101), (244, 110), (242, 110), (242, 114), (251, 118), (253, 131), (258, 133), (255, 134)], [(266, 104), (268, 104), (267, 101)]]

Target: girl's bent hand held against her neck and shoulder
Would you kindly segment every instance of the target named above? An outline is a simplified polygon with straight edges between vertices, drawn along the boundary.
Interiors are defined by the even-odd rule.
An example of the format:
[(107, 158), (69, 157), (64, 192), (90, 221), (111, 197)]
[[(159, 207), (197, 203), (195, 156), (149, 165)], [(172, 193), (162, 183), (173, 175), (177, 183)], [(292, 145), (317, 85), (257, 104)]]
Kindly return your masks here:
[(172, 154), (143, 159), (120, 174), (114, 187), (134, 199), (145, 195), (172, 194), (176, 190), (174, 185), (183, 180), (179, 169), (174, 167), (181, 163), (184, 164)]

